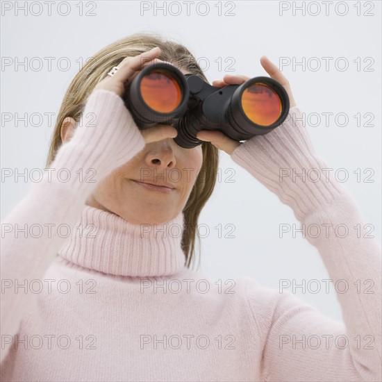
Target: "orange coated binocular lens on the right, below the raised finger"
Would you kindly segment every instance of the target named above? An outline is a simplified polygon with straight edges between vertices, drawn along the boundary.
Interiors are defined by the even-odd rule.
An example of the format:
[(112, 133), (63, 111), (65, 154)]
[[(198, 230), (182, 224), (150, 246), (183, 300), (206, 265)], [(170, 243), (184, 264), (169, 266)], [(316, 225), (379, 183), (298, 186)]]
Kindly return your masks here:
[(255, 124), (270, 126), (281, 115), (281, 100), (265, 83), (254, 83), (242, 92), (242, 108)]

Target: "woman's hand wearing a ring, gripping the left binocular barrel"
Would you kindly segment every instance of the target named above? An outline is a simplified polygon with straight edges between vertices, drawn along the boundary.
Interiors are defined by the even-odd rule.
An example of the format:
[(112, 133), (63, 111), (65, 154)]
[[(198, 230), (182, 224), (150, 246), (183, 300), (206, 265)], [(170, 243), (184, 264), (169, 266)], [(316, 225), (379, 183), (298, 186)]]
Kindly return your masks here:
[[(113, 76), (103, 78), (93, 91), (99, 89), (108, 90), (122, 97), (126, 88), (130, 85), (131, 81), (133, 81), (133, 78), (138, 75), (140, 70), (154, 62), (163, 62), (157, 58), (159, 55), (160, 48), (156, 47), (138, 56), (124, 58), (121, 63), (119, 63), (117, 72), (115, 72)], [(173, 126), (162, 124), (140, 130), (140, 133), (146, 144), (166, 138), (175, 138), (178, 134), (176, 128)]]

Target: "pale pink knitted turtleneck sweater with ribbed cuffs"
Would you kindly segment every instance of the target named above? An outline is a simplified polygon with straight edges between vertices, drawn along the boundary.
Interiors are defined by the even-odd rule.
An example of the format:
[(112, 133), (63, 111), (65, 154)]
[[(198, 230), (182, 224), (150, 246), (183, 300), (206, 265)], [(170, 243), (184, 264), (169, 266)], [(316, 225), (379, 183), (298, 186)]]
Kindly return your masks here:
[(279, 178), (329, 167), (296, 117), (297, 106), (231, 157), (299, 222), (327, 227), (306, 237), (349, 285), (344, 324), (249, 277), (219, 284), (188, 270), (181, 235), (168, 233), (183, 214), (160, 233), (86, 206), (92, 180), (144, 147), (122, 99), (97, 90), (51, 165), (69, 180), (45, 174), (2, 222), (1, 381), (381, 381), (380, 247), (353, 229), (363, 219), (332, 177)]

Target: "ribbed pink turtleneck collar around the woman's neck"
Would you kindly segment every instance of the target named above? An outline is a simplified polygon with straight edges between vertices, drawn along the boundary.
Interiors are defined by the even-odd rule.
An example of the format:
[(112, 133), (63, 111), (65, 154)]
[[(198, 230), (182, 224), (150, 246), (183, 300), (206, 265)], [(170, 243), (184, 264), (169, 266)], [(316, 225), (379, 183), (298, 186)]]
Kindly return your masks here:
[(74, 230), (58, 251), (71, 263), (117, 276), (166, 276), (185, 267), (181, 249), (183, 213), (163, 224), (131, 224), (84, 206)]

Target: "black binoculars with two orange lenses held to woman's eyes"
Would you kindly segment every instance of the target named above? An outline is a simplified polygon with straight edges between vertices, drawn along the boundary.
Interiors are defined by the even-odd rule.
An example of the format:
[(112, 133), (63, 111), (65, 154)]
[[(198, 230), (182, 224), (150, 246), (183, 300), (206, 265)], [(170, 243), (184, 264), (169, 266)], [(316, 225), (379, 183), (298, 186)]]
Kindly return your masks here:
[(288, 94), (273, 78), (215, 88), (169, 63), (144, 67), (122, 99), (138, 128), (170, 124), (178, 131), (174, 141), (185, 149), (203, 143), (198, 131), (218, 130), (233, 140), (248, 140), (269, 133), (289, 113)]

